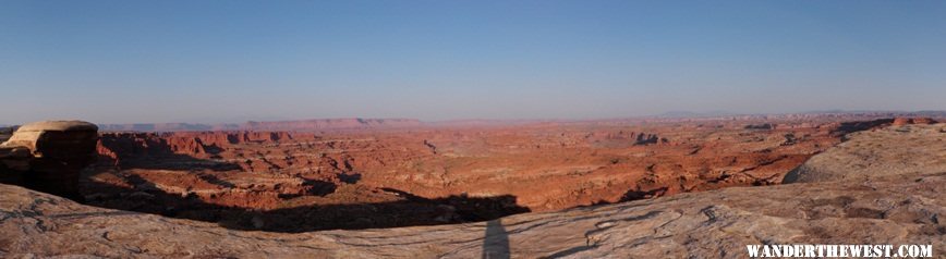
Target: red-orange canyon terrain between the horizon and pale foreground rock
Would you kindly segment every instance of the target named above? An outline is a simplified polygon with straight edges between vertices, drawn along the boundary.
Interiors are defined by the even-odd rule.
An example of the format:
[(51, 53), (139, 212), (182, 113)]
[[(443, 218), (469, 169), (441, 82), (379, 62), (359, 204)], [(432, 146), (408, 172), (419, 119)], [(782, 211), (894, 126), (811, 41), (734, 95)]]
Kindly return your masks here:
[(80, 189), (89, 205), (239, 230), (473, 222), (777, 184), (811, 156), (840, 143), (845, 133), (893, 122), (841, 123), (848, 120), (666, 119), (324, 132), (289, 123), (295, 131), (113, 132), (101, 134), (99, 161), (84, 172)]

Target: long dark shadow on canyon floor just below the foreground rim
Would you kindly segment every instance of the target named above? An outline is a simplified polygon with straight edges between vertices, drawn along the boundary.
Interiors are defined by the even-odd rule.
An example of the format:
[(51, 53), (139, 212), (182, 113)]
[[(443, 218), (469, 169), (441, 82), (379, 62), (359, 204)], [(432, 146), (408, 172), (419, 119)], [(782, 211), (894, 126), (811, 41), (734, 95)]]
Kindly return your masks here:
[[(363, 203), (329, 203), (278, 209), (254, 209), (213, 203), (201, 195), (168, 193), (156, 184), (136, 175), (126, 175), (128, 185), (112, 185), (96, 181), (84, 183), (87, 205), (130, 210), (171, 218), (217, 223), (243, 231), (300, 233), (320, 230), (360, 230), (413, 225), (437, 225), (495, 220), (500, 217), (529, 212), (516, 203), (510, 195), (497, 197), (449, 196), (424, 198), (397, 189), (384, 189), (400, 196), (399, 200)], [(314, 181), (318, 185), (335, 183)], [(314, 188), (318, 189), (318, 188)], [(302, 196), (319, 196), (310, 193)], [(289, 202), (292, 197), (279, 197)], [(209, 200), (209, 201), (208, 201)], [(253, 202), (252, 200), (246, 202)]]

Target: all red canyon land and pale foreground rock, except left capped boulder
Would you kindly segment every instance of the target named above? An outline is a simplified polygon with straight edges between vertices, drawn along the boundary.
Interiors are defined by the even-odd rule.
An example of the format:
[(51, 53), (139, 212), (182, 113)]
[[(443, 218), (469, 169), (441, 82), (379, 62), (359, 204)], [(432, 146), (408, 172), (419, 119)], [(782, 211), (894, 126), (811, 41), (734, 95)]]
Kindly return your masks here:
[(98, 125), (71, 199), (0, 185), (0, 256), (741, 258), (726, 251), (854, 240), (942, 252), (944, 118)]

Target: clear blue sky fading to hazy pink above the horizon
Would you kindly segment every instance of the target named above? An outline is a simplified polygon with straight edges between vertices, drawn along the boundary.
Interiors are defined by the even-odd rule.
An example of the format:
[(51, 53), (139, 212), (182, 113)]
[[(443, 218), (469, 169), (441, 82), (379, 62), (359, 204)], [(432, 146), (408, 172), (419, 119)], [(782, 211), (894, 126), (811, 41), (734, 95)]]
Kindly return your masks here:
[(0, 1), (0, 123), (946, 109), (946, 1)]

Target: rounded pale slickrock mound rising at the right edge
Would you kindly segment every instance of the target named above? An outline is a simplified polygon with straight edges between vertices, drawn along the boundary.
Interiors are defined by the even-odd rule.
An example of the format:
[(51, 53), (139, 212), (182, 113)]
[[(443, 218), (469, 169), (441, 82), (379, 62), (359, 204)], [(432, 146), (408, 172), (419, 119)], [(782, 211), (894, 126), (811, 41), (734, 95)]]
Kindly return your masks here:
[[(900, 121), (900, 120), (898, 120)], [(848, 135), (812, 157), (784, 183), (866, 181), (946, 172), (946, 123), (897, 124)]]

